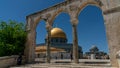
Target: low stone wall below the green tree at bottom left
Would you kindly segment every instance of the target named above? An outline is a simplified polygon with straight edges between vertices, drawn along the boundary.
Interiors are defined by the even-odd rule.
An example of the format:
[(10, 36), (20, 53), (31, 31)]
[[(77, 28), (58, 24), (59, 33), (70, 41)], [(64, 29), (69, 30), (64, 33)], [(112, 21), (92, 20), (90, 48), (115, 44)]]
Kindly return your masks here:
[(8, 68), (17, 64), (18, 56), (0, 57), (0, 68)]

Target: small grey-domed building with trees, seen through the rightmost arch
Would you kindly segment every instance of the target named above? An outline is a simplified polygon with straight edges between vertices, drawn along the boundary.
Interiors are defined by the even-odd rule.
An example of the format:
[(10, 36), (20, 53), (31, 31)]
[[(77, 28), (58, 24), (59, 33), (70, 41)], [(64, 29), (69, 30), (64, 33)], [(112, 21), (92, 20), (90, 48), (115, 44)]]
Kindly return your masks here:
[(109, 55), (103, 51), (99, 51), (96, 46), (92, 46), (89, 52), (85, 52), (84, 59), (109, 59)]

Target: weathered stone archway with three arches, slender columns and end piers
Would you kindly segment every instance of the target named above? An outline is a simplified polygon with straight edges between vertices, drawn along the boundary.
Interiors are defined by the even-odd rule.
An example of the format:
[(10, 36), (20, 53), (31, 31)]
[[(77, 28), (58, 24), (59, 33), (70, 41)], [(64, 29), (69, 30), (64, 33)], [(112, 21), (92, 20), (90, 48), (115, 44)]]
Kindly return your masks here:
[(92, 4), (98, 6), (103, 11), (105, 20), (105, 27), (110, 51), (110, 59), (112, 66), (118, 66), (116, 53), (120, 50), (120, 1), (119, 0), (66, 0), (65, 2), (59, 3), (55, 6), (47, 8), (45, 10), (33, 13), (27, 16), (27, 29), (28, 37), (26, 42), (25, 56), (27, 62), (34, 61), (35, 51), (35, 28), (37, 23), (44, 19), (46, 20), (46, 29), (48, 32), (48, 62), (50, 61), (50, 30), (52, 28), (53, 20), (61, 12), (67, 12), (71, 17), (71, 24), (73, 28), (73, 52), (74, 52), (74, 63), (78, 63), (77, 57), (77, 24), (78, 15), (80, 11), (87, 5)]

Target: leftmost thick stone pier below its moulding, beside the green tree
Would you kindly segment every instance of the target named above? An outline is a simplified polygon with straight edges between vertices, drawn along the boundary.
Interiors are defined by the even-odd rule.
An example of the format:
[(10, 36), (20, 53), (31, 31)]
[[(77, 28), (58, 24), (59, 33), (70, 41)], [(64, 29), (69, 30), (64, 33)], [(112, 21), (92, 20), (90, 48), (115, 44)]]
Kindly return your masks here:
[(27, 63), (32, 63), (35, 60), (35, 31), (29, 31), (27, 42), (25, 44), (25, 59)]

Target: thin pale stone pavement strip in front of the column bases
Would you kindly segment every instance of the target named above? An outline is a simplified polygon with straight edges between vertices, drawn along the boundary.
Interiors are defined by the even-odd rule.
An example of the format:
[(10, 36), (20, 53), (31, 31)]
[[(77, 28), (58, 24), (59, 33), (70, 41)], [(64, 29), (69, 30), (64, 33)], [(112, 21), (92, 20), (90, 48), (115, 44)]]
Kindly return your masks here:
[(117, 68), (117, 67), (110, 67), (110, 65), (84, 65), (73, 63), (50, 63), (50, 64), (37, 63), (15, 66), (10, 68)]

